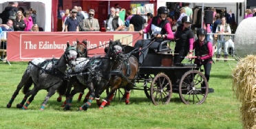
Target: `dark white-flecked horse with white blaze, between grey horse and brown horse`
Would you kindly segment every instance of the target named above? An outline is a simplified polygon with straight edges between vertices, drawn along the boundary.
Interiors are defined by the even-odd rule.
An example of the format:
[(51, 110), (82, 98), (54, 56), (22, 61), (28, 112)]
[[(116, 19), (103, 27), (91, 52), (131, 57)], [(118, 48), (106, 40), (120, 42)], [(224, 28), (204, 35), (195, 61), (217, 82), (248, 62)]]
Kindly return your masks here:
[[(83, 106), (78, 108), (78, 110), (87, 110), (87, 108), (92, 104), (92, 100), (96, 97), (98, 102), (100, 93), (103, 92), (105, 86), (107, 86), (110, 79), (110, 71), (116, 62), (121, 62), (124, 54), (122, 52), (122, 47), (120, 41), (109, 41), (109, 47), (105, 48), (107, 54), (104, 57), (94, 56), (87, 62), (85, 69), (79, 71), (85, 73), (83, 75), (77, 75), (78, 81), (85, 85), (89, 89), (88, 101), (85, 102)], [(76, 70), (75, 70), (76, 71)], [(68, 86), (70, 87), (70, 86)], [(70, 95), (70, 90), (67, 89), (67, 104), (65, 105), (65, 110), (70, 109), (70, 104), (72, 102), (72, 95)]]

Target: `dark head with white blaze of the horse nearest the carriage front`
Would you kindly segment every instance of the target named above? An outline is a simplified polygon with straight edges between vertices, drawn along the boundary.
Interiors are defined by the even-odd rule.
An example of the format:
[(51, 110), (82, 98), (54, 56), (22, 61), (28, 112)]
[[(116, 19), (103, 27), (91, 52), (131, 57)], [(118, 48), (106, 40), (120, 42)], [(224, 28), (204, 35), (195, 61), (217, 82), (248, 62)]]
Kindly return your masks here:
[(109, 47), (105, 48), (105, 53), (111, 60), (123, 60), (125, 57), (120, 40), (109, 40)]

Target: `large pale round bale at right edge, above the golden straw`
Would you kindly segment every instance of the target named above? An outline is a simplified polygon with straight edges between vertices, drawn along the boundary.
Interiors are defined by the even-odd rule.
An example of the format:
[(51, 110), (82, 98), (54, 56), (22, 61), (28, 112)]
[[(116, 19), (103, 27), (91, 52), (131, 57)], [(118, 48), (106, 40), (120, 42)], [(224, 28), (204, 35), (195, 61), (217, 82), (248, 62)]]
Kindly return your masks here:
[(235, 32), (235, 50), (237, 56), (244, 58), (248, 54), (256, 55), (256, 17), (244, 19)]

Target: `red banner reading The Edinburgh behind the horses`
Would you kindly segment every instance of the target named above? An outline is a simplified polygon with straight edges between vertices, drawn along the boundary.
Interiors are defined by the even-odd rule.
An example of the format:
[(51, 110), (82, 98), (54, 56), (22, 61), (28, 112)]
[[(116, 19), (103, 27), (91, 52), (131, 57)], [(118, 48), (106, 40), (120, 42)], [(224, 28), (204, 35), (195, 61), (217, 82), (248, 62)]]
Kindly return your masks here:
[[(134, 45), (142, 37), (138, 32), (8, 32), (7, 56), (9, 61), (28, 61), (34, 58), (60, 58), (67, 47), (87, 40), (89, 55), (104, 54), (109, 39)], [(97, 47), (97, 48), (96, 48)], [(96, 49), (94, 49), (96, 48)]]

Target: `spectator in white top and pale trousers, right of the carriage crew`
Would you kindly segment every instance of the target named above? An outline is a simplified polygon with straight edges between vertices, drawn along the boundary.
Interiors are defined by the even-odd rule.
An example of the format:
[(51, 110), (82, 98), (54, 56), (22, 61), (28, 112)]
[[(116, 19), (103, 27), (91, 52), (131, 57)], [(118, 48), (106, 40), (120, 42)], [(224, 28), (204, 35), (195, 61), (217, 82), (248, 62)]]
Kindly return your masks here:
[[(229, 40), (229, 36), (225, 36), (224, 34), (231, 34), (231, 27), (226, 23), (226, 17), (222, 17), (222, 23), (220, 25), (217, 25), (216, 29), (217, 34), (223, 34), (218, 35), (217, 38), (217, 55), (216, 58), (220, 58), (220, 53), (222, 51), (222, 46), (224, 48), (224, 58), (228, 58), (228, 45), (225, 45), (226, 41)], [(216, 59), (216, 61), (219, 61)], [(224, 60), (226, 62), (226, 60)]]

